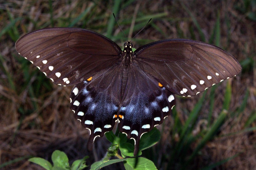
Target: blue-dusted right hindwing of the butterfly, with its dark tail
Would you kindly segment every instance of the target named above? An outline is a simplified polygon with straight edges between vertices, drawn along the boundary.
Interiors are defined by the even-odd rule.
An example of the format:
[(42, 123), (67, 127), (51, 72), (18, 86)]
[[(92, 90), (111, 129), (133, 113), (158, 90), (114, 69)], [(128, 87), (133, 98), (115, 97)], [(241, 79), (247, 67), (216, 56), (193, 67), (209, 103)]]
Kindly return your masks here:
[(140, 69), (138, 64), (135, 61), (128, 68), (128, 80), (118, 115), (120, 132), (135, 141), (134, 155), (138, 152), (141, 135), (162, 124), (175, 104), (174, 94)]

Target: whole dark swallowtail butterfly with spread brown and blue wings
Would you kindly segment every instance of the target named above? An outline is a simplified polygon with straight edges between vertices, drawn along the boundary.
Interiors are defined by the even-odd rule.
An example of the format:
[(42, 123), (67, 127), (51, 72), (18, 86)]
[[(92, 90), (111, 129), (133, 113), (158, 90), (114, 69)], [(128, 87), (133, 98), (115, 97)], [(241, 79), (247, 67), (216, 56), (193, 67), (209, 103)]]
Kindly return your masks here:
[(70, 109), (90, 130), (87, 148), (113, 129), (134, 139), (172, 114), (175, 95), (190, 97), (241, 71), (226, 51), (187, 39), (166, 39), (132, 51), (109, 38), (79, 28), (45, 28), (15, 44), (18, 53), (55, 84), (74, 85)]

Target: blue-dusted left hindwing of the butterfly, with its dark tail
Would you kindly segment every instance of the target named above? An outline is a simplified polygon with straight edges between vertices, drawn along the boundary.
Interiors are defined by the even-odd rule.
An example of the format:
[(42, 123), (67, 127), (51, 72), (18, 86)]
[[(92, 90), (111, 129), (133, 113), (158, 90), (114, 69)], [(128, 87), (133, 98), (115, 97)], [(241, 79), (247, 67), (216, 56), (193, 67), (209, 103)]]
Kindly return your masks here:
[(70, 109), (83, 127), (90, 130), (87, 142), (92, 150), (94, 139), (113, 129), (120, 103), (122, 69), (116, 64), (76, 85), (70, 94)]

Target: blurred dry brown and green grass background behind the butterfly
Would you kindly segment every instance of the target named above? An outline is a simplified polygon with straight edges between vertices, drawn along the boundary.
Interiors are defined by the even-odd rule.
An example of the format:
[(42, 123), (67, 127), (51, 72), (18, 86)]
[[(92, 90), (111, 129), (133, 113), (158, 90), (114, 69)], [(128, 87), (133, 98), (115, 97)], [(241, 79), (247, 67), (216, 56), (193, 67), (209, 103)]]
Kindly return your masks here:
[[(242, 72), (195, 97), (177, 97), (173, 116), (157, 126), (161, 141), (143, 151), (158, 169), (256, 169), (256, 1), (0, 1), (0, 169), (40, 169), (31, 156), (50, 160), (59, 149), (70, 162), (103, 158), (110, 143), (97, 138), (88, 152), (88, 130), (69, 109), (72, 87), (53, 84), (15, 50), (17, 39), (46, 27), (99, 32), (121, 47), (167, 38), (217, 45)], [(105, 169), (124, 169), (122, 164)]]

